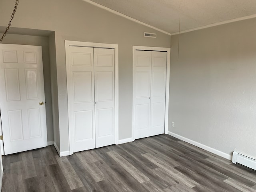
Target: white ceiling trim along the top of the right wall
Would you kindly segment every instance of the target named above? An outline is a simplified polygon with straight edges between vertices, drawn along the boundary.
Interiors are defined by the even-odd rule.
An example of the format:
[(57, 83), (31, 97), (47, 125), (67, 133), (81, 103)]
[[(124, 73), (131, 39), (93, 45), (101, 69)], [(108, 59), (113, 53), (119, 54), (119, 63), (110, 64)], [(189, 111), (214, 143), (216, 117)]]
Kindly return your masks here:
[[(232, 22), (236, 22), (236, 21), (251, 19), (251, 18), (256, 18), (256, 14), (245, 16), (245, 17), (240, 17), (240, 18), (236, 18), (236, 19), (230, 19), (230, 20), (226, 20), (226, 21), (222, 21), (222, 22), (217, 22), (217, 23), (213, 23), (213, 24), (210, 24), (210, 25), (205, 25), (205, 26), (202, 26), (202, 27), (196, 27), (196, 28), (193, 28), (193, 29), (184, 30), (184, 31), (181, 31), (180, 34), (191, 32), (191, 31), (196, 31), (196, 30), (200, 30), (200, 29), (205, 29), (205, 28), (209, 28), (209, 27), (214, 27), (214, 26), (218, 26), (218, 25), (228, 24), (228, 23), (232, 23)], [(177, 35), (177, 34), (179, 34), (179, 32), (171, 33), (171, 36), (172, 35)]]

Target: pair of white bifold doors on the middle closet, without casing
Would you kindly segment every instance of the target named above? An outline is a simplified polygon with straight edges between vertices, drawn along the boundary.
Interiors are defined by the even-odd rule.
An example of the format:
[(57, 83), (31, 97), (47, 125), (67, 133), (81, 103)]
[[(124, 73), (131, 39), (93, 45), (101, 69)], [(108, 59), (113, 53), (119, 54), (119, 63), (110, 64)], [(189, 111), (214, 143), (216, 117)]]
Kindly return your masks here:
[(114, 49), (68, 47), (68, 114), (73, 152), (115, 143), (114, 64)]

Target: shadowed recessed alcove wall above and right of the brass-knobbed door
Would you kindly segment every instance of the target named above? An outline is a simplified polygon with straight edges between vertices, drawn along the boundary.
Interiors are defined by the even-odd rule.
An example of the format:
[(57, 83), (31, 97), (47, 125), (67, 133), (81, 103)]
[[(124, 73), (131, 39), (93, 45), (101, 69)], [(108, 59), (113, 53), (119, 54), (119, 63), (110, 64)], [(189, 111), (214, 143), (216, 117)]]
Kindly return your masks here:
[(6, 38), (4, 38), (3, 43), (42, 46), (47, 140), (53, 141), (52, 98), (51, 98), (51, 84), (50, 84), (50, 60), (49, 60), (48, 37), (8, 34)]

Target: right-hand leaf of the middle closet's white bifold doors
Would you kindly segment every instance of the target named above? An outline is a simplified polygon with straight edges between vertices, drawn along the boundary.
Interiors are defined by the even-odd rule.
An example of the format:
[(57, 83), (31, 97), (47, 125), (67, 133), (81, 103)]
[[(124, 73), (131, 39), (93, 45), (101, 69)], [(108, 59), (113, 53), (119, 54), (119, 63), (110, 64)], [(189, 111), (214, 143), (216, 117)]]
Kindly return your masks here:
[(114, 49), (94, 48), (96, 148), (115, 143)]

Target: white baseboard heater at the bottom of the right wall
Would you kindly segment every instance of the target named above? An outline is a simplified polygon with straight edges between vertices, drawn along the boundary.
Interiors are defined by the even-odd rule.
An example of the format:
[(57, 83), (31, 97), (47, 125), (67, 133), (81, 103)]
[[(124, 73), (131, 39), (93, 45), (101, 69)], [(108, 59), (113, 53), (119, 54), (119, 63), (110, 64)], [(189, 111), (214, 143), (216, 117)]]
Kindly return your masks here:
[(236, 151), (233, 152), (232, 163), (239, 163), (241, 165), (256, 170), (256, 159), (250, 158)]

